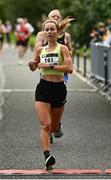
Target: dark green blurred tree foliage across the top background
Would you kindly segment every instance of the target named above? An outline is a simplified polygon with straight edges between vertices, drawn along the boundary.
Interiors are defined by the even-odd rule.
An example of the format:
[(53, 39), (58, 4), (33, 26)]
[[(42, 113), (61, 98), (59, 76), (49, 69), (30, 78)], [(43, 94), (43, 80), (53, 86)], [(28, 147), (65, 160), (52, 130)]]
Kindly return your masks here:
[(0, 19), (9, 19), (13, 27), (17, 17), (27, 17), (35, 27), (35, 34), (39, 31), (37, 22), (42, 15), (58, 8), (63, 17), (74, 16), (76, 20), (68, 29), (71, 33), (73, 44), (79, 42), (82, 46), (90, 41), (91, 29), (98, 22), (107, 22), (110, 16), (111, 0), (0, 0)]

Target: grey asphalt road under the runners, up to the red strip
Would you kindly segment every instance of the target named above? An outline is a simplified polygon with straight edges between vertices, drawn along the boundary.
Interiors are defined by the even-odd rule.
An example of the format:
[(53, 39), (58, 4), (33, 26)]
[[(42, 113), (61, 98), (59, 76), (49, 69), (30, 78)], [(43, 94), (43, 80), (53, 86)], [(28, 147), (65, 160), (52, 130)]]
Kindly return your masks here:
[[(34, 109), (40, 77), (27, 67), (31, 57), (28, 50), (20, 66), (17, 49), (5, 48), (0, 59), (0, 170), (44, 168)], [(110, 169), (111, 104), (76, 73), (69, 76), (67, 89), (64, 136), (51, 146), (55, 169)]]

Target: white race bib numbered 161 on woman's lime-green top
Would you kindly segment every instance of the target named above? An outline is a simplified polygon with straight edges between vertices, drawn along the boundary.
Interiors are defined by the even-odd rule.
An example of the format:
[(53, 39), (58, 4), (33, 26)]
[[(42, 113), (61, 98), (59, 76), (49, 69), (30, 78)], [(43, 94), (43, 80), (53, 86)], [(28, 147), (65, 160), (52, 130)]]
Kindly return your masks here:
[(57, 65), (58, 64), (58, 54), (57, 53), (43, 54), (41, 57), (41, 63)]

